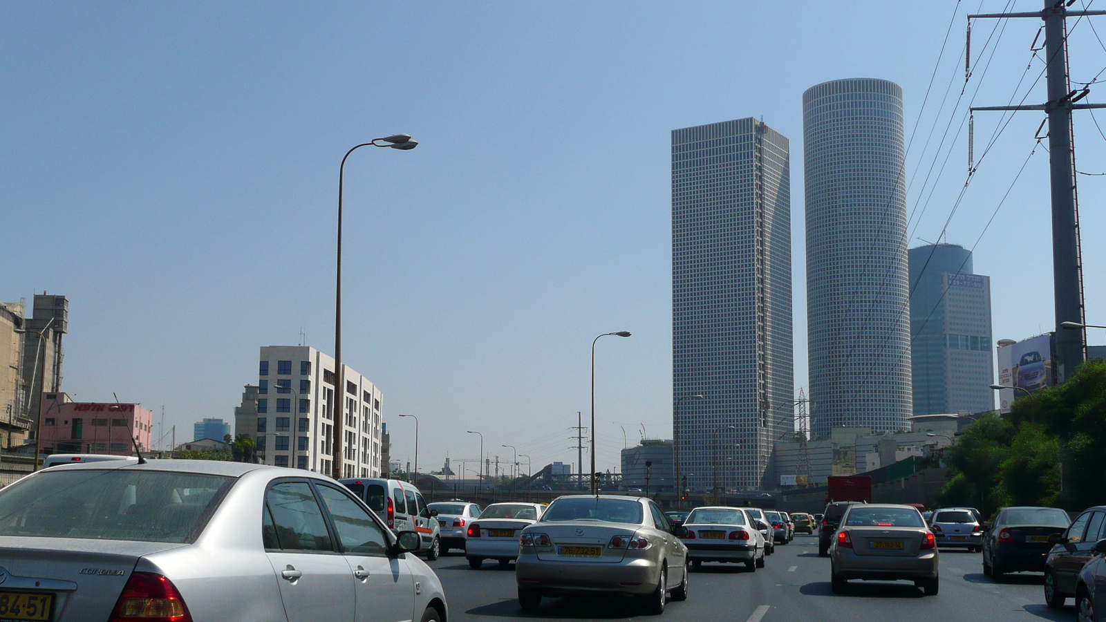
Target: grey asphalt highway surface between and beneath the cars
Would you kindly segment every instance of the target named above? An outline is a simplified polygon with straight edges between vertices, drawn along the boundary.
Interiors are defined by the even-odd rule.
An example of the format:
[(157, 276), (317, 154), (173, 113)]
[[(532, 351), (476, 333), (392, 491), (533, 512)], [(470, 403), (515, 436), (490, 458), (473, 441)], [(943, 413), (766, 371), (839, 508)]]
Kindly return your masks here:
[[(995, 583), (983, 576), (980, 553), (942, 550), (940, 593), (924, 597), (905, 581), (852, 581), (848, 593), (834, 594), (830, 560), (817, 556), (814, 536), (795, 536), (775, 551), (766, 567), (755, 572), (735, 564), (703, 564), (691, 572), (688, 600), (669, 601), (660, 618), (727, 622), (1075, 620), (1071, 599), (1062, 611), (1045, 607), (1040, 573), (1013, 574)], [(492, 561), (481, 570), (470, 570), (463, 553), (455, 551), (430, 566), (445, 585), (449, 622), (651, 618), (640, 614), (628, 600), (589, 598), (543, 599), (538, 613), (525, 614), (515, 600), (513, 564), (501, 569)]]

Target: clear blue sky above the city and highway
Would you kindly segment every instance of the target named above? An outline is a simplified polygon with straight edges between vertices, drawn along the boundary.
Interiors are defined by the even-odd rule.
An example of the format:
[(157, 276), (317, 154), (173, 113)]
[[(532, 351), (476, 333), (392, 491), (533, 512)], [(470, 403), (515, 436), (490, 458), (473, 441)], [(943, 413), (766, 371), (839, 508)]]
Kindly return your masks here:
[[(574, 462), (591, 340), (629, 330), (597, 354), (597, 462), (614, 466), (622, 428), (630, 444), (641, 426), (671, 434), (669, 132), (763, 115), (791, 139), (803, 387), (803, 91), (853, 76), (902, 86), (908, 141), (918, 127), (911, 246), (933, 241), (966, 180), (968, 102), (1008, 103), (1030, 64), (1018, 103), (1043, 68), (1030, 52), (1039, 21), (981, 21), (953, 105), (963, 15), (1008, 4), (1040, 7), (7, 3), (0, 299), (69, 296), (63, 388), (82, 401), (116, 392), (157, 423), (164, 404), (179, 442), (200, 417), (232, 418), (259, 346), (295, 343), (302, 326), (333, 351), (338, 162), (407, 132), (417, 149), (362, 149), (346, 168), (344, 356), (385, 393), (393, 455), (413, 456), (410, 419), (396, 417), (411, 413), (421, 467), (476, 457), (466, 429), (504, 459), (501, 444), (535, 468)], [(1106, 50), (1089, 20), (1073, 23), (1073, 80), (1088, 82)], [(1106, 34), (1106, 20), (1093, 23)], [(1025, 101), (1043, 100), (1042, 80)], [(977, 159), (1000, 114), (977, 114)], [(975, 243), (1041, 118), (1005, 125), (948, 241)], [(1075, 127), (1078, 169), (1106, 173), (1106, 137), (1087, 113)], [(1093, 323), (1106, 323), (1104, 179), (1078, 179)], [(1048, 227), (1037, 148), (975, 248), (995, 340), (1053, 322)]]

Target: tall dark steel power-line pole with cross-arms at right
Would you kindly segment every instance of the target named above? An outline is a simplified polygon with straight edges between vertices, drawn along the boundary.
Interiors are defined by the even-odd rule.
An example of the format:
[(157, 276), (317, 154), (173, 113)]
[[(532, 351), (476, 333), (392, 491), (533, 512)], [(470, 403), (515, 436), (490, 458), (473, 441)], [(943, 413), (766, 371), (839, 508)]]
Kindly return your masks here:
[[(1056, 320), (1056, 382), (1062, 383), (1084, 361), (1086, 329), (1063, 330), (1061, 323), (1084, 323), (1083, 266), (1079, 217), (1075, 188), (1075, 149), (1072, 145), (1072, 111), (1104, 108), (1106, 104), (1077, 104), (1091, 87), (1072, 91), (1067, 74), (1068, 15), (1106, 15), (1106, 11), (1068, 11), (1064, 0), (1044, 0), (1044, 10), (1015, 13), (982, 13), (981, 18), (1037, 18), (1044, 20), (1047, 102), (1026, 106), (980, 106), (975, 111), (1044, 111), (1048, 115), (1048, 165), (1052, 189), (1052, 277)], [(969, 29), (969, 37), (971, 30)], [(969, 60), (970, 62), (970, 60)], [(964, 76), (967, 80), (967, 75)]]

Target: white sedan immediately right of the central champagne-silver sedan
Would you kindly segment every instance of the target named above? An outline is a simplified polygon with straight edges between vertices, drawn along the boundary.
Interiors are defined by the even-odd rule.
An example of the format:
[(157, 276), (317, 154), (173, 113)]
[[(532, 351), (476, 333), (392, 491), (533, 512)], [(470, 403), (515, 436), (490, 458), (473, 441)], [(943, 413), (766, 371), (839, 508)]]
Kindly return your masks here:
[(681, 539), (696, 569), (705, 561), (741, 562), (754, 572), (764, 568), (764, 536), (740, 508), (696, 508), (684, 527)]

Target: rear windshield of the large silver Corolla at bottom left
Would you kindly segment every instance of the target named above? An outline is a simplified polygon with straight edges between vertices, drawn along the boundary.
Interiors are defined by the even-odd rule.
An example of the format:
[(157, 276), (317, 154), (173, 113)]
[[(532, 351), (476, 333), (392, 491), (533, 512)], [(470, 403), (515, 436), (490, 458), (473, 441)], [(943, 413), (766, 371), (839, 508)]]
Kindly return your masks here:
[(0, 491), (0, 536), (191, 542), (233, 483), (122, 468), (43, 471)]

